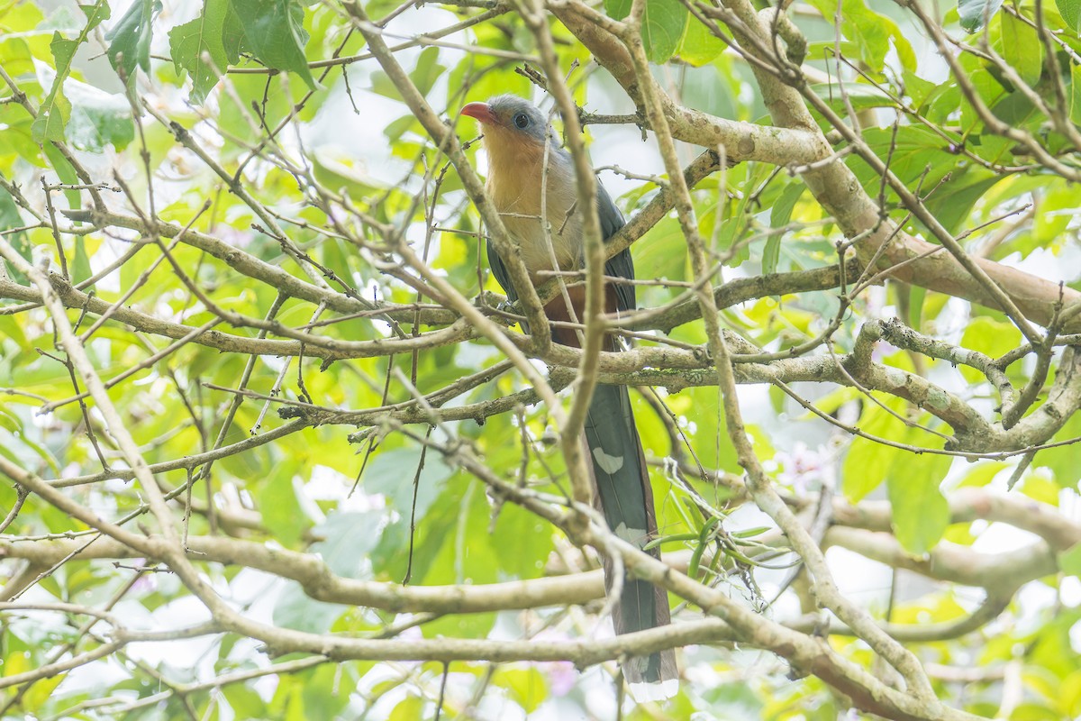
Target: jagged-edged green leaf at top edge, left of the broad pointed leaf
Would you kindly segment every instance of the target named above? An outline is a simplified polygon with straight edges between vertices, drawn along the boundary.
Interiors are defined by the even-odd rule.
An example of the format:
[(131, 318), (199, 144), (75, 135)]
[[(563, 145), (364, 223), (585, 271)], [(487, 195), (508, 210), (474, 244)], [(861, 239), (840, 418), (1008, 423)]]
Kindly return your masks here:
[(199, 17), (169, 31), (169, 49), (176, 72), (191, 78), (191, 102), (201, 104), (229, 65), (223, 42), (229, 16), (228, 0), (205, 0)]

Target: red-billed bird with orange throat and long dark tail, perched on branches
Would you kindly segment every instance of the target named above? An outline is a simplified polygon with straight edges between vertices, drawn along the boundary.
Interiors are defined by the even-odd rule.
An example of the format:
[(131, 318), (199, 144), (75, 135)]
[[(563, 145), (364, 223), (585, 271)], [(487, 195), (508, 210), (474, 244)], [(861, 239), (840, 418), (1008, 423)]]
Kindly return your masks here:
[[(462, 115), (476, 118), (483, 129), (483, 148), (488, 153), (488, 192), (503, 217), (516, 250), (525, 262), (530, 279), (538, 284), (543, 271), (577, 270), (583, 266), (583, 214), (577, 209), (577, 189), (571, 156), (556, 142), (545, 115), (533, 104), (515, 95), (498, 95), (488, 103), (469, 103)], [(547, 173), (543, 173), (545, 145), (548, 142)], [(542, 190), (542, 178), (546, 179)], [(542, 204), (542, 199), (544, 203)], [(542, 208), (546, 213), (540, 217)], [(623, 227), (623, 214), (603, 186), (597, 187), (597, 211), (601, 233), (606, 239)], [(549, 226), (551, 246), (545, 237)], [(490, 244), (488, 259), (492, 273), (516, 301), (518, 291), (506, 266)], [(604, 266), (604, 273), (632, 279), (635, 266), (630, 251), (624, 250)], [(585, 289), (569, 290), (573, 315), (562, 295), (545, 306), (553, 321), (579, 322), (585, 318)], [(628, 311), (636, 307), (635, 286), (630, 283), (605, 285), (605, 310)], [(552, 326), (552, 339), (565, 346), (579, 345), (573, 329)], [(619, 350), (615, 337), (605, 341), (606, 350)], [(598, 384), (585, 423), (585, 442), (592, 459), (596, 500), (609, 526), (620, 538), (641, 548), (656, 535), (653, 492), (645, 468), (642, 442), (638, 437), (630, 397), (626, 386)], [(652, 551), (658, 556), (656, 550)], [(609, 592), (611, 569), (605, 566)], [(616, 633), (654, 628), (669, 623), (668, 595), (644, 580), (627, 579), (614, 604)], [(671, 651), (631, 658), (624, 664), (624, 676), (639, 699), (671, 696), (678, 685), (676, 657)]]

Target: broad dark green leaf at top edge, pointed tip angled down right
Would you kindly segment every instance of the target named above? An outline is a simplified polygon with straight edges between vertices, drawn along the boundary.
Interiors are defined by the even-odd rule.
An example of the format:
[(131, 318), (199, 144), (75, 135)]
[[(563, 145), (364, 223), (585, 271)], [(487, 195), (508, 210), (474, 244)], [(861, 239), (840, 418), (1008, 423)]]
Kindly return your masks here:
[(230, 46), (229, 35), (239, 34), (239, 46), (275, 70), (301, 76), (308, 88), (318, 88), (304, 55), (308, 34), (304, 29), (304, 8), (296, 0), (228, 0), (230, 18), (224, 45)]

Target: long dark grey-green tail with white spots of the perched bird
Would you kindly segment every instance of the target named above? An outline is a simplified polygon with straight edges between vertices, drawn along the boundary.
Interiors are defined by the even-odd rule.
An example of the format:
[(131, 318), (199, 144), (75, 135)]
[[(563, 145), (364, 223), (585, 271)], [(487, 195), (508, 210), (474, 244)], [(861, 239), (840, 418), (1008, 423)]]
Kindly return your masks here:
[[(653, 491), (645, 470), (645, 455), (630, 410), (626, 386), (598, 384), (589, 404), (585, 424), (586, 445), (592, 458), (597, 481), (597, 500), (609, 528), (624, 540), (638, 547), (645, 545), (657, 532), (653, 509)], [(659, 558), (654, 549), (653, 556)], [(611, 568), (605, 564), (605, 585), (611, 588)], [(616, 633), (655, 628), (669, 623), (668, 595), (665, 589), (645, 580), (626, 579), (612, 620)], [(678, 671), (671, 650), (624, 664), (624, 676), (636, 691), (636, 684), (664, 684), (664, 687), (639, 689), (636, 696), (670, 696), (675, 692)]]

